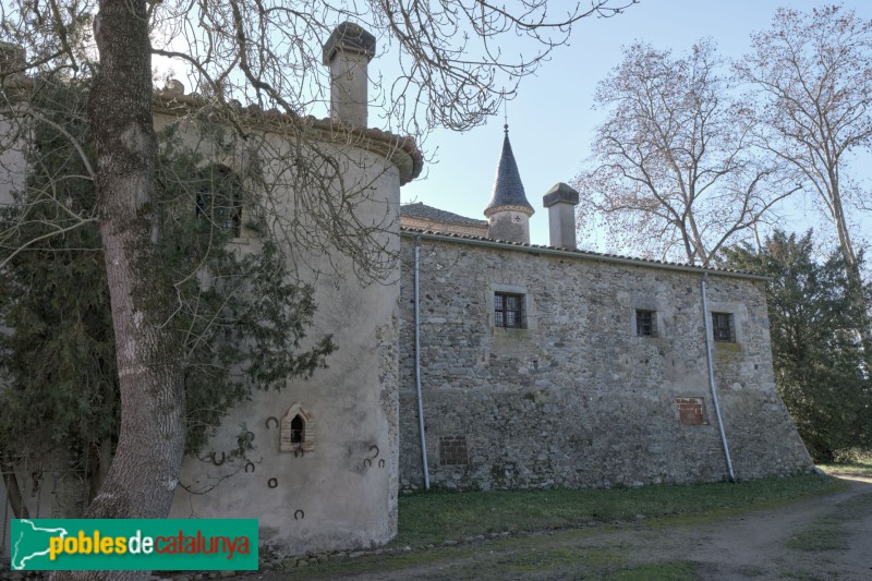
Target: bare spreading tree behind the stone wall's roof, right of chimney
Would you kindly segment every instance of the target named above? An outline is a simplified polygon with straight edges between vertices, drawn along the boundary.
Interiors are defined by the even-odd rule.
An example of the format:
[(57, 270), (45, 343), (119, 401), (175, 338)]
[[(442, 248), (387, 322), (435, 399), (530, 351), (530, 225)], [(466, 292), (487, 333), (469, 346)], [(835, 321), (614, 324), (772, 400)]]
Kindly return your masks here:
[(595, 94), (609, 116), (578, 178), (582, 235), (598, 217), (618, 246), (705, 265), (795, 191), (754, 155), (750, 116), (720, 68), (710, 41), (680, 57), (625, 48)]

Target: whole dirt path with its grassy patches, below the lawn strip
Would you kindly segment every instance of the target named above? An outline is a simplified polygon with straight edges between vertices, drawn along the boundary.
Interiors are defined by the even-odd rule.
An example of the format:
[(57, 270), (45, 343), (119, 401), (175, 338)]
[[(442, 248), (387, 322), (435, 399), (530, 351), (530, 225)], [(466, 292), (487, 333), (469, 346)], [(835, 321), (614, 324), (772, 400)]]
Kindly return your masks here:
[(872, 580), (872, 480), (849, 482), (835, 495), (698, 524), (568, 530), (258, 577)]

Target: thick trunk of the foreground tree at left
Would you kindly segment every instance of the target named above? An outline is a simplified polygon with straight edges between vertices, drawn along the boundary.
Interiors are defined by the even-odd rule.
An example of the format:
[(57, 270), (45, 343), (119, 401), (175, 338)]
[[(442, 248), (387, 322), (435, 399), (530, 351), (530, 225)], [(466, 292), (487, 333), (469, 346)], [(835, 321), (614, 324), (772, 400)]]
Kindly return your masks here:
[[(97, 146), (97, 198), (112, 306), (121, 429), (114, 460), (86, 518), (164, 518), (184, 451), (184, 388), (166, 325), (172, 285), (156, 256), (150, 214), (157, 144), (144, 0), (101, 0), (95, 20), (100, 66), (88, 98)], [(144, 579), (145, 571), (56, 578)]]

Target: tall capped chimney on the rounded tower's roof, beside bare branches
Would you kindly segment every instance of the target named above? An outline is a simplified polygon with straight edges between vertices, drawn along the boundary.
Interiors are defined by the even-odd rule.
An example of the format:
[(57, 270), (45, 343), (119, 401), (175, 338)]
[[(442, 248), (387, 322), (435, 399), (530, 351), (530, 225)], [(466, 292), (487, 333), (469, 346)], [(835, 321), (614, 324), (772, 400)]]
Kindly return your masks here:
[(368, 101), (366, 68), (375, 57), (375, 37), (356, 24), (343, 22), (324, 45), (324, 64), (330, 68), (330, 119), (366, 126)]

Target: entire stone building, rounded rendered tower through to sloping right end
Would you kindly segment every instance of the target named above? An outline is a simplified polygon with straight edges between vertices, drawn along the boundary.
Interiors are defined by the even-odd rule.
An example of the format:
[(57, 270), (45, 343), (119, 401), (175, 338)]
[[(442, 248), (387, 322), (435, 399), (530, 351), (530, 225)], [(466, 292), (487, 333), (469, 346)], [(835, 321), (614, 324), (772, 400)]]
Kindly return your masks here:
[[(384, 247), (400, 261), (387, 285), (362, 285), (339, 255), (329, 259), (348, 276), (311, 273), (311, 335), (331, 332), (339, 346), (329, 368), (232, 410), (185, 461), (172, 517), (256, 518), (262, 542), (301, 553), (389, 541), (400, 488), (425, 477), (481, 488), (712, 481), (729, 472), (725, 443), (739, 479), (810, 467), (775, 391), (759, 277), (576, 250), (578, 194), (566, 184), (544, 198), (550, 245), (531, 245), (534, 209), (508, 131), (493, 196), (482, 198), (486, 221), (423, 204), (401, 210), (400, 186), (423, 161), (411, 141), (366, 129), (374, 43), (354, 25), (337, 28), (324, 51), (330, 119), (304, 122), (344, 160), (346, 181), (372, 191), (359, 218), (384, 225)], [(159, 92), (156, 126), (178, 124), (202, 143), (186, 117), (196, 99), (180, 84)], [(249, 112), (249, 129), (287, 153), (283, 118)], [(232, 148), (205, 153), (225, 156), (228, 171), (244, 162)], [(24, 158), (3, 156), (21, 171), (0, 175), (8, 203)], [(283, 193), (288, 211), (298, 194)], [(256, 252), (239, 218), (234, 243)], [(255, 449), (230, 457), (241, 424)], [(45, 492), (26, 499), (33, 516), (73, 516), (48, 508), (50, 485), (26, 486)]]

